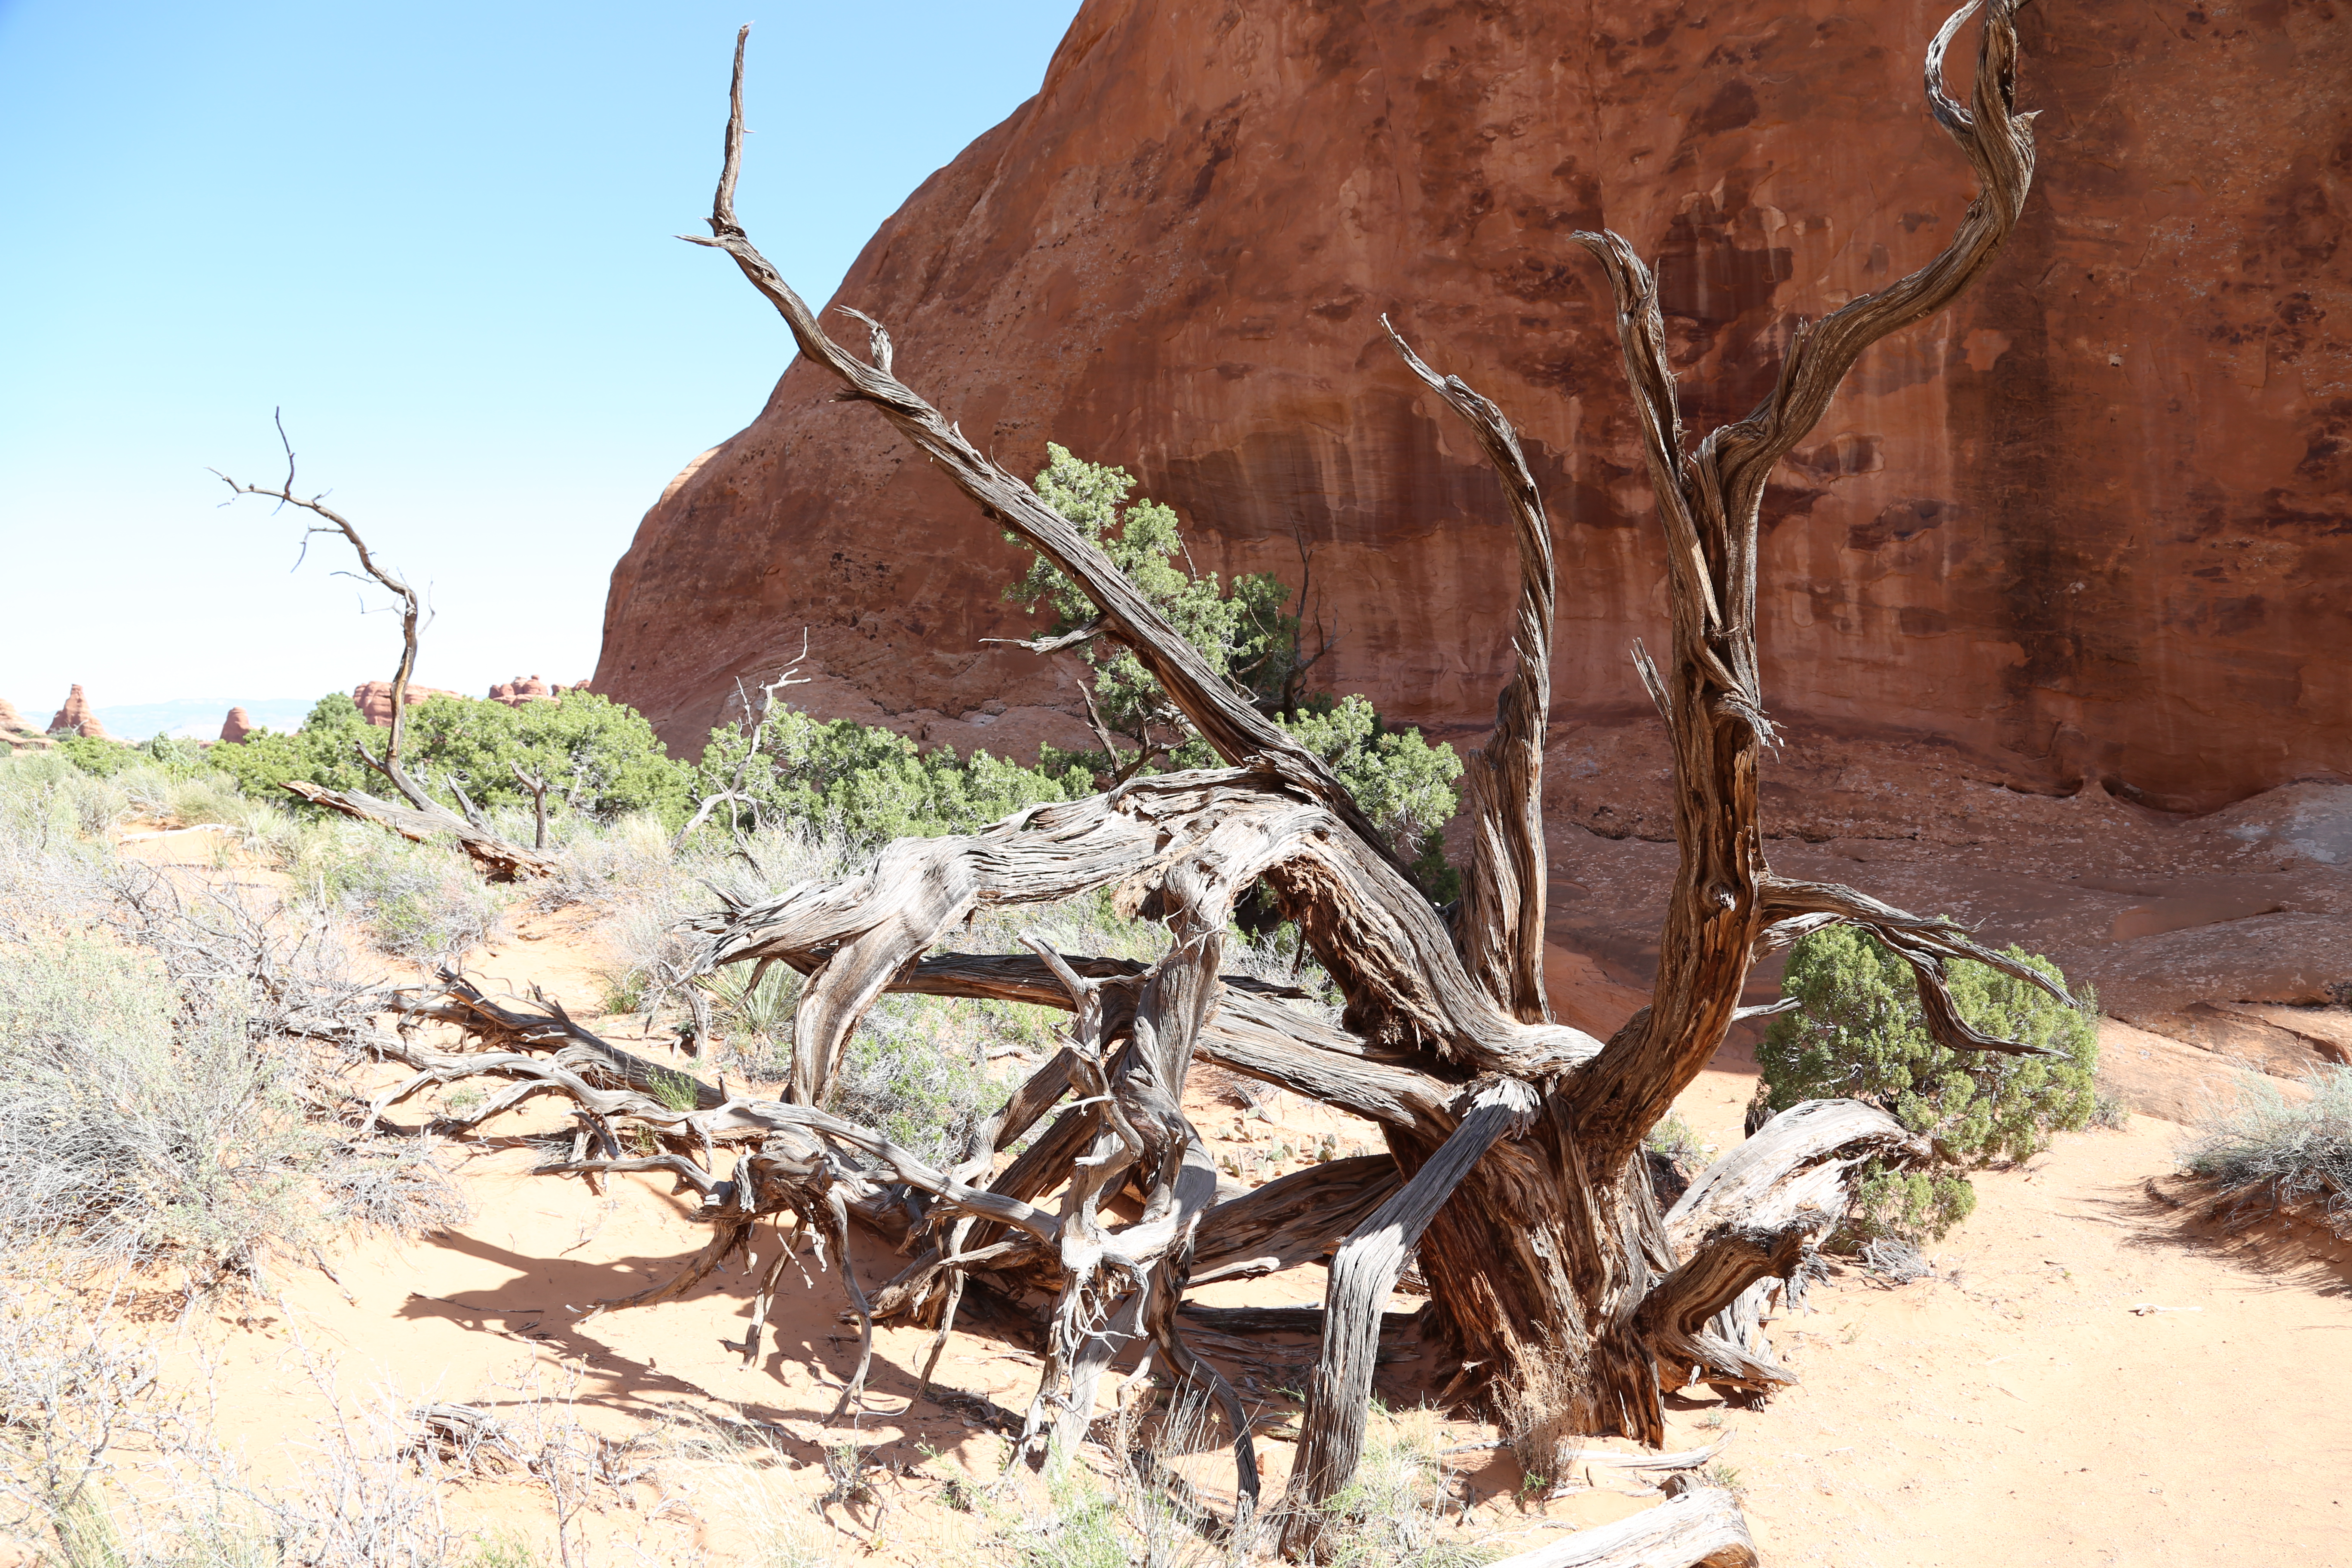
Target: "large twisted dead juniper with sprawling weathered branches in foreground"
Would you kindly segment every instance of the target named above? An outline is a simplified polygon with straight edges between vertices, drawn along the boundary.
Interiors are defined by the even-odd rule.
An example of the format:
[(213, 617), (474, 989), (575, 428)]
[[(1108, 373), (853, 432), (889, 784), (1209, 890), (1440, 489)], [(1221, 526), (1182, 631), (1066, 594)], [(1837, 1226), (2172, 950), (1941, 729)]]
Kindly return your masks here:
[[(1232, 1389), (1185, 1345), (1178, 1307), (1204, 1276), (1331, 1253), (1319, 1366), (1282, 1502), (1282, 1540), (1294, 1554), (1315, 1552), (1319, 1505), (1357, 1467), (1381, 1302), (1414, 1246), (1430, 1284), (1423, 1333), (1454, 1352), (1463, 1392), (1491, 1392), (1531, 1472), (1550, 1474), (1576, 1434), (1658, 1443), (1668, 1389), (1696, 1380), (1757, 1392), (1788, 1385), (1757, 1333), (1762, 1288), (1797, 1269), (1837, 1220), (1856, 1164), (1917, 1147), (1877, 1110), (1813, 1100), (1769, 1121), (1661, 1211), (1642, 1138), (1738, 1018), (1757, 954), (1830, 922), (1858, 924), (1910, 961), (1938, 1037), (1971, 1051), (2027, 1046), (1983, 1037), (1955, 1013), (1950, 959), (2049, 985), (1945, 919), (1778, 877), (1757, 820), (1757, 755), (1771, 738), (1755, 623), (1764, 482), (1863, 348), (1950, 303), (2018, 221), (2032, 134), (2030, 115), (2013, 110), (2016, 5), (1992, 0), (1971, 103), (1945, 94), (1943, 56), (1976, 0), (1926, 54), (1929, 106), (1980, 181), (1959, 233), (1910, 277), (1799, 327), (1776, 388), (1748, 418), (1686, 437), (1649, 268), (1613, 233), (1578, 235), (1616, 296), (1672, 595), (1668, 658), (1653, 665), (1637, 649), (1637, 663), (1672, 736), (1679, 865), (1651, 1004), (1606, 1041), (1555, 1023), (1543, 992), (1552, 550), (1543, 498), (1503, 411), (1397, 339), (1411, 374), (1477, 435), (1519, 552), (1515, 670), (1496, 731), (1470, 762), (1472, 856), (1449, 922), (1312, 752), (1216, 677), (1070, 520), (891, 374), (880, 329), (870, 362), (851, 355), (753, 247), (734, 214), (739, 35), (710, 237), (696, 242), (734, 259), (790, 324), (800, 353), (840, 378), (840, 397), (870, 404), (993, 522), (1065, 571), (1098, 607), (1101, 635), (1136, 654), (1228, 766), (1134, 776), (981, 832), (903, 839), (866, 875), (703, 919), (708, 966), (781, 961), (807, 976), (786, 1100), (722, 1103), (699, 1086), (701, 1110), (668, 1110), (642, 1093), (590, 1088), (576, 1072), (572, 1086), (555, 1084), (581, 1105), (583, 1128), (600, 1128), (602, 1152), (590, 1157), (583, 1131), (567, 1168), (670, 1168), (706, 1194), (720, 1232), (652, 1295), (706, 1274), (741, 1246), (757, 1213), (818, 1218), (830, 1208), (840, 1229), (844, 1197), (877, 1220), (910, 1208), (917, 1220), (903, 1244), (913, 1262), (873, 1302), (875, 1314), (936, 1321), (946, 1335), (967, 1284), (1014, 1302), (1042, 1293), (1049, 1363), (1028, 1413), (1033, 1439), (1084, 1434), (1096, 1382), (1129, 1345), (1164, 1356), (1232, 1420), (1242, 1526), (1258, 1505), (1251, 1439)], [(1258, 882), (1345, 994), (1341, 1027), (1221, 973), (1232, 905)], [(1129, 907), (1164, 922), (1174, 936), (1167, 957), (1138, 966), (1035, 940), (1025, 954), (936, 952), (983, 905), (1096, 889), (1117, 889)], [(1073, 1013), (1068, 1046), (974, 1128), (948, 1171), (823, 1110), (854, 1027), (891, 990)], [(522, 1039), (520, 1025), (501, 1027)], [(576, 1032), (567, 1039), (581, 1065), (586, 1046)], [(506, 1058), (529, 1060), (520, 1051)], [(1216, 1171), (1183, 1114), (1185, 1074), (1202, 1060), (1364, 1117), (1388, 1152), (1218, 1204)], [(1051, 1112), (997, 1173), (997, 1152)], [(626, 1159), (607, 1126), (614, 1114), (649, 1124), (666, 1152)], [(720, 1143), (746, 1147), (729, 1178), (713, 1166)], [(903, 1204), (873, 1201), (884, 1185)], [(1143, 1197), (1131, 1222), (1105, 1211), (1122, 1187)], [(1656, 1533), (1625, 1547), (1623, 1561), (1670, 1552), (1661, 1542), (1684, 1528), (1675, 1523), (1682, 1514), (1675, 1505), (1653, 1514)], [(1672, 1561), (1752, 1561), (1745, 1552), (1740, 1533)]]

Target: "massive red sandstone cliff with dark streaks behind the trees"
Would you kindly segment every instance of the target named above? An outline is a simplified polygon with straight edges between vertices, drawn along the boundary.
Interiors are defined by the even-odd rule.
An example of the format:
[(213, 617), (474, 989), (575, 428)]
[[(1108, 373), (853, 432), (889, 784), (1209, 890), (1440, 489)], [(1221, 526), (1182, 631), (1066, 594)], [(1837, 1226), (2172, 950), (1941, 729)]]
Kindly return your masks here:
[[(1632, 712), (1658, 541), (1606, 287), (1569, 230), (1658, 259), (1693, 423), (1745, 411), (1797, 317), (1922, 263), (1969, 200), (1917, 87), (1943, 9), (1089, 0), (1042, 92), (837, 299), (1014, 470), (1047, 440), (1124, 463), (1221, 571), (1296, 581), (1303, 541), (1345, 632), (1329, 679), (1484, 724), (1508, 529), (1381, 341), (1395, 313), (1526, 435), (1562, 715)], [(1783, 468), (1766, 693), (2169, 806), (2352, 771), (2352, 28), (2256, 0), (2034, 7), (2023, 31), (2032, 207)], [(748, 179), (783, 158), (755, 150)], [(764, 313), (748, 289), (739, 308)], [(830, 395), (793, 369), (670, 484), (614, 569), (597, 689), (691, 745), (809, 628), (816, 712), (1077, 741), (1056, 668), (981, 646), (1025, 628), (1000, 599), (1018, 552)], [(983, 731), (990, 701), (1009, 715)]]

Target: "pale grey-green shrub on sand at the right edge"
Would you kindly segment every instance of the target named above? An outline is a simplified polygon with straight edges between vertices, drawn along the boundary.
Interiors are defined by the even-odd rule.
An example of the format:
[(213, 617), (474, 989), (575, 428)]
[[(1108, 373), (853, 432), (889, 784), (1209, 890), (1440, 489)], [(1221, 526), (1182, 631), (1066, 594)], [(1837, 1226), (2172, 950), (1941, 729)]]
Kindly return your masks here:
[(2216, 1182), (2239, 1215), (2307, 1208), (2352, 1237), (2352, 1067), (2310, 1074), (2312, 1098), (2291, 1105), (2270, 1079), (2246, 1074), (2239, 1098), (2197, 1119), (2180, 1166)]

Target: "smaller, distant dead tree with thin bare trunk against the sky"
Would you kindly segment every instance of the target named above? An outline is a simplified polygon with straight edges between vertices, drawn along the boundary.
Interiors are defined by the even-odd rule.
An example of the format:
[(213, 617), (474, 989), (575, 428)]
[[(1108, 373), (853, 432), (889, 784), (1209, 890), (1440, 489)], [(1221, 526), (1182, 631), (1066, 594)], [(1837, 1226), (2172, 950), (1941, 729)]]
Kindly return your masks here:
[(456, 776), (449, 776), (445, 783), (466, 816), (456, 816), (449, 806), (426, 795), (416, 780), (409, 778), (407, 766), (400, 762), (400, 741), (407, 729), (409, 677), (416, 672), (416, 623), (423, 618), (423, 607), (416, 599), (416, 590), (376, 559), (376, 555), (367, 548), (367, 541), (360, 538), (360, 529), (353, 527), (348, 517), (329, 508), (325, 496), (294, 494), (294, 442), (287, 440), (282, 416), (278, 418), (278, 442), (287, 454), (287, 477), (275, 489), (266, 484), (240, 484), (221, 470), (214, 470), (214, 475), (238, 496), (266, 496), (280, 505), (296, 505), (313, 517), (320, 517), (320, 522), (303, 529), (303, 548), (310, 548), (313, 534), (341, 536), (350, 545), (353, 555), (360, 557), (360, 571), (400, 599), (400, 668), (393, 670), (393, 719), (383, 736), (383, 755), (367, 750), (365, 741), (355, 743), (360, 762), (381, 773), (386, 783), (400, 792), (400, 802), (376, 799), (362, 790), (327, 790), (325, 785), (301, 778), (289, 778), (285, 783), (287, 792), (299, 795), (313, 806), (327, 806), (329, 811), (355, 816), (362, 823), (379, 823), (405, 839), (423, 842), (435, 835), (449, 835), (489, 877), (515, 879), (550, 875), (555, 863), (543, 853), (548, 846), (548, 785), (543, 778), (524, 778), (520, 769), (515, 771), (517, 780), (532, 792), (539, 809), (539, 832), (532, 849), (522, 849), (520, 844), (510, 844), (499, 837), (496, 830), (492, 830), (489, 818), (473, 804)]

